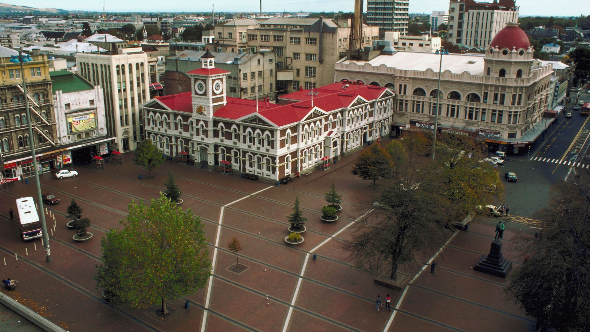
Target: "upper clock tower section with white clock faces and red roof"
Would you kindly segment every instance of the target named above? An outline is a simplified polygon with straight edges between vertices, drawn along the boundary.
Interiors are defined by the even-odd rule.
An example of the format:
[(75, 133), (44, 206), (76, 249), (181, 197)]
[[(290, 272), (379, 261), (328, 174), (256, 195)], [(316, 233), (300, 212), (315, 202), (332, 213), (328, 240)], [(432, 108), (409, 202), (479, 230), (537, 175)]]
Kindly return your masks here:
[[(211, 121), (213, 113), (227, 103), (225, 79), (230, 72), (215, 68), (215, 56), (207, 52), (201, 56), (201, 68), (186, 73), (192, 83), (192, 113), (197, 119)], [(208, 126), (211, 126), (208, 123)]]

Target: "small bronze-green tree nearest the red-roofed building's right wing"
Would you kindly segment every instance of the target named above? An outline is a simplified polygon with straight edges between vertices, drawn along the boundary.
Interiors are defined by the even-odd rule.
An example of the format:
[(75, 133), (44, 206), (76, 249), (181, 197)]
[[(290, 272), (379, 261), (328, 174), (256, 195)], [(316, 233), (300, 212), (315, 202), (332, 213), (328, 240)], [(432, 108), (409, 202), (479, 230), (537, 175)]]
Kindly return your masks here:
[(374, 189), (380, 177), (389, 176), (389, 170), (391, 170), (391, 160), (387, 151), (375, 143), (360, 151), (351, 172), (363, 180), (372, 180)]

